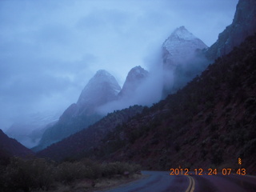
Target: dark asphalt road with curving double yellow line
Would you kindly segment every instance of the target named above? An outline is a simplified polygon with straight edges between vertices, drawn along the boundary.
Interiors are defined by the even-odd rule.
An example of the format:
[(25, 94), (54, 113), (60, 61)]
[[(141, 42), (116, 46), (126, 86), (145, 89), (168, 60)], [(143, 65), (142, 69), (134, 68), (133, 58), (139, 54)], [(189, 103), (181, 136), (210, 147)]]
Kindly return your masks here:
[(142, 174), (148, 177), (102, 192), (256, 192), (254, 176), (170, 176), (167, 171), (142, 171)]

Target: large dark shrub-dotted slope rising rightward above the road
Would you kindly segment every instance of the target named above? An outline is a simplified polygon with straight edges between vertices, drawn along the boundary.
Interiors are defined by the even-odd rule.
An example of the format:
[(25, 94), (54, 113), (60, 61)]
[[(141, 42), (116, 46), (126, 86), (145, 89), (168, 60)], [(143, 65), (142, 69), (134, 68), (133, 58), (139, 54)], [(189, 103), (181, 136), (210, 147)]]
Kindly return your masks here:
[(246, 173), (255, 174), (255, 63), (256, 34), (140, 114), (116, 111), (38, 155), (137, 162), (153, 170), (237, 169), (240, 157)]

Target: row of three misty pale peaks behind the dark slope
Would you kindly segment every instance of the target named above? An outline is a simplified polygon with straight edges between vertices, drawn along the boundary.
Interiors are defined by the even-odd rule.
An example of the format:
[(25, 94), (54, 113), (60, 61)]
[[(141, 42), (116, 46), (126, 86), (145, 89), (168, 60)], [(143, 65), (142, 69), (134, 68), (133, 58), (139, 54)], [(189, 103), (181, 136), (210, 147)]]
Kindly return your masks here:
[(46, 130), (34, 150), (42, 150), (82, 130), (114, 110), (133, 105), (151, 106), (165, 94), (182, 88), (206, 68), (208, 61), (202, 54), (206, 47), (182, 26), (163, 43), (163, 63), (155, 62), (150, 72), (135, 66), (127, 74), (122, 90), (111, 74), (99, 70), (82, 90), (78, 102), (62, 114), (53, 128)]

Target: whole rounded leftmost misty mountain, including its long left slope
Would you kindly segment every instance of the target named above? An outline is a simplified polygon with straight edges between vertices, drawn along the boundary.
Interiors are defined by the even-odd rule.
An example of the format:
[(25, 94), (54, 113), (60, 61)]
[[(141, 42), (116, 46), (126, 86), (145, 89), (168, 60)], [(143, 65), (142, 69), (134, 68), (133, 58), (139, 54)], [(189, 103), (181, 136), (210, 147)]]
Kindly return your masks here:
[(96, 111), (97, 107), (117, 99), (120, 90), (114, 76), (106, 70), (98, 70), (82, 90), (78, 102), (70, 105), (58, 122), (45, 131), (39, 145), (33, 150), (42, 150), (97, 122), (103, 117)]

